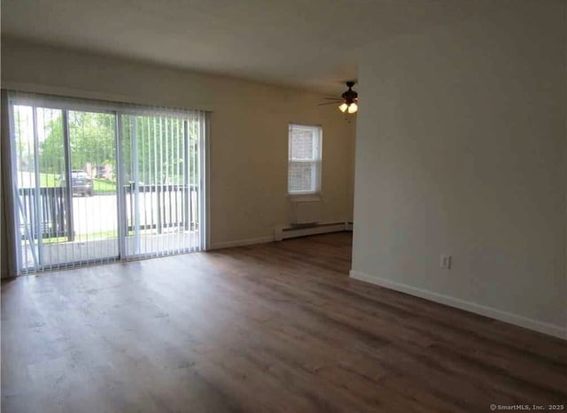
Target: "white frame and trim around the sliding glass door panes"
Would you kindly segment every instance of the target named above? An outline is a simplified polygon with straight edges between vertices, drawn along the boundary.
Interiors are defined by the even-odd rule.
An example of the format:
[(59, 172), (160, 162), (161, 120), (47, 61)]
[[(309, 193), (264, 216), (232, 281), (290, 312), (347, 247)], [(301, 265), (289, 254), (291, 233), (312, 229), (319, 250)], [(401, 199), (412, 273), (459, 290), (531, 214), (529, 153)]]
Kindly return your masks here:
[[(187, 184), (187, 191), (186, 193), (190, 195), (190, 163), (189, 163), (189, 156), (190, 156), (190, 148), (189, 148), (189, 125), (190, 119), (194, 116), (191, 112), (192, 111), (185, 111), (183, 109), (175, 110), (171, 108), (159, 108), (156, 111), (151, 109), (151, 106), (144, 106), (144, 105), (136, 105), (136, 104), (128, 104), (128, 103), (113, 103), (113, 102), (106, 102), (106, 101), (93, 101), (93, 100), (85, 100), (81, 98), (73, 98), (73, 97), (63, 97), (63, 96), (46, 96), (34, 93), (21, 93), (19, 92), (11, 92), (8, 90), (2, 90), (2, 102), (4, 105), (4, 109), (7, 113), (8, 117), (8, 127), (4, 129), (7, 133), (5, 139), (3, 139), (2, 144), (2, 153), (3, 153), (3, 163), (9, 165), (8, 167), (4, 168), (3, 171), (3, 180), (4, 185), (3, 187), (4, 195), (6, 199), (6, 232), (7, 236), (7, 250), (9, 252), (11, 264), (9, 265), (10, 276), (17, 276), (21, 275), (22, 273), (35, 273), (35, 272), (44, 272), (49, 270), (59, 270), (59, 269), (66, 269), (66, 268), (76, 268), (82, 265), (88, 264), (97, 264), (100, 263), (99, 258), (94, 259), (87, 259), (87, 260), (79, 260), (69, 263), (61, 263), (61, 264), (40, 264), (40, 256), (35, 256), (35, 267), (32, 269), (31, 267), (23, 268), (22, 263), (22, 241), (21, 241), (21, 223), (19, 219), (19, 209), (21, 208), (20, 205), (20, 198), (19, 198), (19, 185), (18, 180), (16, 179), (17, 173), (17, 154), (16, 154), (16, 145), (15, 145), (15, 122), (14, 122), (14, 106), (23, 105), (23, 106), (31, 106), (33, 111), (33, 122), (34, 122), (34, 162), (35, 162), (35, 192), (39, 191), (39, 187), (41, 186), (40, 180), (38, 180), (37, 176), (40, 173), (38, 169), (38, 159), (39, 159), (39, 148), (38, 148), (38, 140), (37, 140), (37, 108), (44, 108), (44, 109), (53, 109), (59, 110), (62, 113), (62, 127), (63, 127), (63, 143), (64, 143), (64, 164), (65, 164), (65, 176), (66, 185), (65, 190), (65, 197), (66, 197), (66, 214), (67, 214), (67, 230), (68, 230), (68, 241), (74, 241), (74, 221), (73, 221), (73, 186), (72, 186), (72, 168), (71, 168), (71, 146), (70, 146), (70, 130), (69, 130), (69, 111), (86, 111), (86, 112), (97, 112), (97, 113), (107, 113), (112, 114), (114, 116), (114, 126), (115, 126), (115, 133), (114, 133), (114, 141), (115, 141), (115, 162), (116, 162), (116, 209), (117, 209), (117, 236), (118, 236), (118, 255), (117, 256), (109, 256), (108, 262), (116, 262), (116, 261), (129, 261), (135, 259), (142, 259), (142, 258), (150, 258), (156, 256), (162, 256), (161, 254), (137, 254), (136, 256), (128, 256), (128, 248), (127, 248), (127, 237), (128, 237), (128, 223), (127, 216), (126, 216), (126, 188), (125, 188), (125, 165), (123, 162), (122, 154), (124, 148), (124, 136), (123, 136), (123, 128), (122, 128), (122, 116), (123, 115), (141, 115), (147, 116), (148, 113), (155, 113), (156, 111), (159, 112), (161, 109), (163, 110), (163, 116), (173, 116), (173, 117), (182, 117), (183, 118), (183, 174), (184, 174), (184, 182)], [(120, 109), (123, 107), (124, 109)], [(137, 109), (136, 109), (137, 108)], [(177, 249), (175, 253), (183, 253), (183, 252), (191, 252), (195, 250), (206, 250), (208, 249), (208, 241), (209, 241), (209, 233), (210, 227), (208, 223), (208, 212), (209, 212), (209, 189), (208, 189), (208, 179), (209, 179), (209, 134), (210, 134), (210, 126), (209, 126), (209, 116), (210, 112), (201, 111), (203, 113), (202, 116), (198, 117), (198, 167), (199, 172), (199, 180), (198, 182), (198, 249), (193, 247), (188, 247), (185, 249)], [(136, 140), (135, 140), (136, 141)], [(131, 143), (133, 145), (134, 143)], [(137, 152), (137, 149), (134, 150)], [(137, 181), (137, 180), (136, 180)], [(9, 185), (7, 185), (9, 184)], [(37, 194), (36, 194), (37, 195)], [(36, 196), (36, 199), (38, 197)], [(187, 201), (187, 200), (186, 200)], [(136, 185), (136, 203), (139, 203), (139, 194), (137, 191)], [(190, 202), (185, 203), (186, 211), (184, 213), (190, 216)], [(139, 207), (138, 207), (139, 210)], [(139, 215), (136, 213), (136, 216)], [(138, 217), (139, 219), (139, 217)], [(41, 220), (41, 219), (40, 219)], [(190, 219), (185, 219), (185, 225), (190, 226)], [(38, 225), (42, 225), (41, 222), (36, 223)], [(139, 224), (139, 223), (138, 223)], [(139, 229), (139, 225), (136, 226)], [(41, 229), (41, 228), (40, 228)], [(37, 228), (35, 229), (37, 232)], [(135, 230), (135, 233), (138, 233)], [(28, 234), (29, 235), (29, 234)], [(41, 237), (41, 231), (39, 231), (38, 236)], [(138, 233), (139, 236), (139, 233)], [(27, 236), (29, 239), (33, 239), (31, 236)], [(38, 244), (41, 244), (41, 239), (36, 241)], [(41, 248), (41, 247), (39, 247)], [(37, 251), (39, 252), (39, 251)], [(136, 252), (139, 252), (136, 249)], [(105, 258), (106, 259), (106, 258)]]

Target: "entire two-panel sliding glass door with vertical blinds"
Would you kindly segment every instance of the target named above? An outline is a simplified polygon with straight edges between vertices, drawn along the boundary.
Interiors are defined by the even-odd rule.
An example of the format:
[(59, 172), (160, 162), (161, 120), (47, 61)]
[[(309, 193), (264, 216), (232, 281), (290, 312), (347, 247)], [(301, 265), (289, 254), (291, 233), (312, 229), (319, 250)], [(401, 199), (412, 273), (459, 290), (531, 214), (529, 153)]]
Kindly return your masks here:
[(204, 112), (10, 103), (19, 273), (203, 248)]

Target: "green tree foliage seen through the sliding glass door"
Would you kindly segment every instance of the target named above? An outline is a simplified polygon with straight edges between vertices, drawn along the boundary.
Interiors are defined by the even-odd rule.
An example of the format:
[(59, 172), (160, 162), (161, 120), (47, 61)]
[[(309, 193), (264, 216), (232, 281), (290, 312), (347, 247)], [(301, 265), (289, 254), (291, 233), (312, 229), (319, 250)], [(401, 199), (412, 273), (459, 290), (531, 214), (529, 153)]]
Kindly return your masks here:
[[(115, 118), (113, 114), (69, 111), (71, 168), (86, 169), (110, 164), (116, 174)], [(198, 162), (198, 123), (189, 121), (190, 165)], [(124, 181), (137, 179), (144, 184), (183, 184), (185, 123), (183, 119), (122, 115), (121, 164)], [(63, 121), (59, 114), (46, 123), (49, 131), (40, 142), (42, 172), (62, 174), (65, 171)], [(134, 164), (132, 145), (136, 144)], [(198, 183), (198, 168), (190, 171), (190, 183)], [(114, 184), (113, 184), (114, 185)], [(97, 187), (95, 186), (95, 189)], [(110, 189), (109, 189), (110, 190)], [(106, 192), (106, 191), (104, 191)]]

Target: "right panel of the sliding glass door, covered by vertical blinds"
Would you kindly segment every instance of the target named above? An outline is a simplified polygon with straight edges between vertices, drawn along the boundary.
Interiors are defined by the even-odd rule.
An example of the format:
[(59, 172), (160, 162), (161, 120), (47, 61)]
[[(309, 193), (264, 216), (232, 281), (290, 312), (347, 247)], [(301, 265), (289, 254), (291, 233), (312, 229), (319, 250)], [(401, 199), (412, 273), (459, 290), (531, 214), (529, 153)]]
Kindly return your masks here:
[(203, 119), (123, 114), (119, 123), (126, 255), (200, 249)]

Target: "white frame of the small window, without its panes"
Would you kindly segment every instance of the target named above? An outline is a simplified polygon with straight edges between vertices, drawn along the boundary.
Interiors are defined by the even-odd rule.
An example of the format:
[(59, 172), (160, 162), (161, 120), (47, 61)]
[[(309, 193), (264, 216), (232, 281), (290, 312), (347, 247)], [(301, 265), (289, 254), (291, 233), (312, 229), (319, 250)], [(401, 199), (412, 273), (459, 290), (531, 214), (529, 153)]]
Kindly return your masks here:
[[(314, 148), (314, 155), (315, 157), (312, 159), (292, 159), (291, 158), (291, 136), (292, 131), (294, 128), (298, 129), (307, 129), (313, 131), (315, 140), (313, 144), (315, 145)], [(288, 157), (287, 157), (287, 196), (288, 197), (316, 197), (320, 199), (322, 196), (322, 126), (321, 125), (306, 125), (306, 124), (299, 124), (299, 123), (290, 123), (288, 125)], [(308, 191), (291, 191), (291, 164), (314, 164), (314, 182), (315, 187)]]

